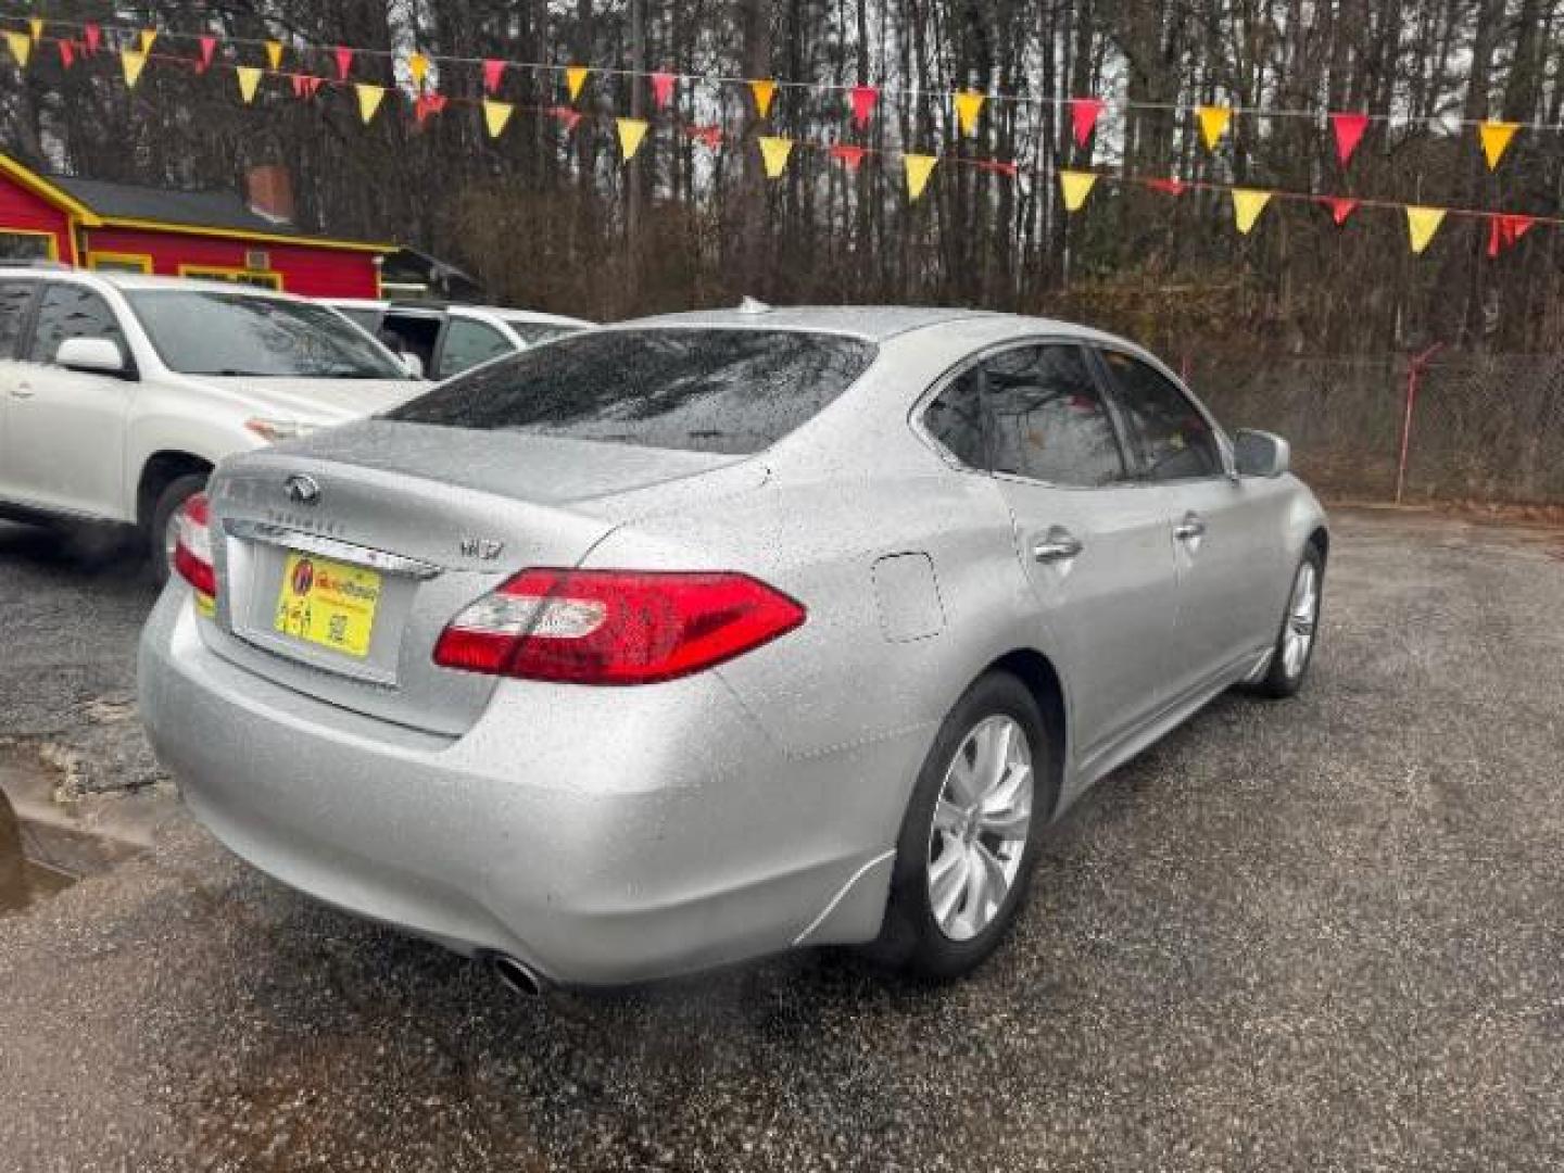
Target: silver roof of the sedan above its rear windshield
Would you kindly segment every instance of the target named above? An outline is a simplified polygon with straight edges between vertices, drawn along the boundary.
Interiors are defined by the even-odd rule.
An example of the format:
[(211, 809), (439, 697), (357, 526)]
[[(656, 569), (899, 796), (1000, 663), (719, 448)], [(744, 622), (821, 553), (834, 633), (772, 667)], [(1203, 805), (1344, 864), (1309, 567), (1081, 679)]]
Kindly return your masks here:
[(637, 317), (627, 322), (616, 322), (608, 328), (626, 327), (727, 327), (727, 328), (774, 328), (774, 330), (820, 330), (827, 333), (854, 335), (874, 343), (884, 343), (898, 335), (915, 330), (927, 330), (940, 325), (960, 322), (985, 322), (990, 327), (1013, 325), (1013, 333), (1021, 336), (1048, 333), (1076, 336), (1093, 341), (1117, 341), (1085, 325), (1060, 322), (1051, 317), (1026, 317), (1023, 314), (1004, 314), (990, 310), (959, 310), (940, 307), (906, 307), (906, 305), (796, 305), (768, 307), (748, 303), (737, 310), (696, 310), (693, 313), (657, 314), (654, 317)]

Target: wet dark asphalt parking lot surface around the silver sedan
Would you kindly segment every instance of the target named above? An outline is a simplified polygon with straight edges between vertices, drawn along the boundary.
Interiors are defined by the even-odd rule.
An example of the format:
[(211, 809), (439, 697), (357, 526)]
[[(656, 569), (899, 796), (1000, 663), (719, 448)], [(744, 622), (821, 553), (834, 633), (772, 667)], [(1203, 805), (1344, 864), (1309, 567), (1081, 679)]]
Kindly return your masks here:
[[(1336, 527), (1304, 694), (1104, 782), (960, 985), (521, 999), (177, 816), (0, 918), (0, 1168), (1558, 1168), (1564, 533)], [(128, 574), (0, 529), (0, 734), (83, 788), (155, 777)]]

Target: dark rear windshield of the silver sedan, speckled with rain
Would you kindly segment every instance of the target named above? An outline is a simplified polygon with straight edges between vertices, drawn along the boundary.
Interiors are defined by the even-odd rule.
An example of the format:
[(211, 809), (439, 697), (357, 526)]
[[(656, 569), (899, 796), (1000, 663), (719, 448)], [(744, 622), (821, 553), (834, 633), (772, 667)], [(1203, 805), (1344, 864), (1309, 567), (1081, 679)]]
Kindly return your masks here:
[(388, 418), (748, 455), (837, 399), (874, 353), (796, 330), (586, 332), (458, 375)]

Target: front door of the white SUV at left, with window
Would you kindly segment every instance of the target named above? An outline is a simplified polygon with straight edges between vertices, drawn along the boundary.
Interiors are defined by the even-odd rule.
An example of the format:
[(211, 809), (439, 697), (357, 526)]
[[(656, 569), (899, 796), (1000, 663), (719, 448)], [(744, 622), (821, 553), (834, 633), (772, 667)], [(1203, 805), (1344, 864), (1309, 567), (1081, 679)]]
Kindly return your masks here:
[(108, 338), (130, 360), (119, 319), (99, 291), (45, 283), (6, 394), (6, 477), (30, 505), (124, 519), (125, 419), (136, 385), (58, 366), (67, 338)]

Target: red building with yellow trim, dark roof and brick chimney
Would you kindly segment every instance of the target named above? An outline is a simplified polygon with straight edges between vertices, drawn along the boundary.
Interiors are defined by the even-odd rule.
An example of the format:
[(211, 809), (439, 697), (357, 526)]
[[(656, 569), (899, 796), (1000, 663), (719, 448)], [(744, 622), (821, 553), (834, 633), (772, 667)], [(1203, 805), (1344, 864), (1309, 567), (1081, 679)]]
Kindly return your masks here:
[(280, 167), (235, 192), (169, 191), (45, 175), (0, 155), (0, 258), (203, 277), (307, 297), (378, 297), (391, 244), (308, 236), (292, 227)]

